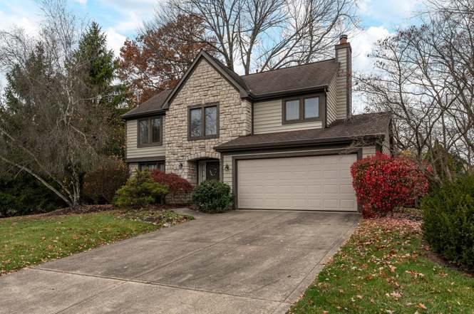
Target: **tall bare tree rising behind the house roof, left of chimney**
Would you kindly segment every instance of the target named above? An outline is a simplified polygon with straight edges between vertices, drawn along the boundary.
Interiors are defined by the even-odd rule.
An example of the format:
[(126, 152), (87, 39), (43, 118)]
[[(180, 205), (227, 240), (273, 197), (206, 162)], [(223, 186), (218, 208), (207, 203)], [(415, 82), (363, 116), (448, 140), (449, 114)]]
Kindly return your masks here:
[(358, 24), (354, 0), (169, 0), (144, 32), (181, 14), (200, 19), (200, 40), (229, 68), (242, 63), (245, 74), (326, 58)]

